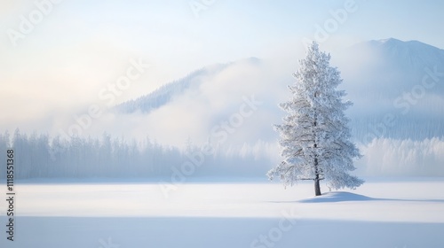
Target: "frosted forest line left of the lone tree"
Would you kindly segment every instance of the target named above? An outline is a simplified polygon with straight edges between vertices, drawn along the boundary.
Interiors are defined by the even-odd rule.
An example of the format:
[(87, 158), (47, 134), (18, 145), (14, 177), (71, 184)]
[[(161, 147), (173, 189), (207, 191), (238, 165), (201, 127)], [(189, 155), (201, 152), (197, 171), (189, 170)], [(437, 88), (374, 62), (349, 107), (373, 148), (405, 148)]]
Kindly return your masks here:
[[(244, 145), (211, 154), (191, 142), (184, 141), (179, 149), (162, 145), (147, 137), (144, 141), (127, 142), (122, 138), (103, 134), (101, 138), (31, 135), (16, 130), (0, 135), (0, 149), (13, 147), (16, 154), (15, 176), (25, 178), (47, 177), (170, 177), (174, 167), (193, 156), (202, 154), (202, 166), (190, 176), (264, 176), (271, 162), (266, 143)], [(0, 154), (5, 159), (5, 154)], [(5, 171), (0, 171), (5, 178)]]

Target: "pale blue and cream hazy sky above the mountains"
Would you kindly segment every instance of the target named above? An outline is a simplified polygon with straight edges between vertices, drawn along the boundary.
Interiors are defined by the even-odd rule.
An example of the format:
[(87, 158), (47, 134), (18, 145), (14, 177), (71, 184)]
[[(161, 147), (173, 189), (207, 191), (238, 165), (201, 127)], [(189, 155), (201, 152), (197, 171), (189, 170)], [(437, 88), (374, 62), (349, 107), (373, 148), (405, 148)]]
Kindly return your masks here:
[[(212, 4), (197, 17), (195, 3)], [(97, 101), (131, 59), (153, 67), (118, 102), (212, 63), (294, 54), (346, 3), (356, 11), (321, 41), (326, 50), (388, 37), (444, 48), (443, 1), (64, 0), (14, 42), (9, 35), (20, 32), (20, 16), (29, 19), (38, 8), (30, 0), (2, 1), (0, 121)]]

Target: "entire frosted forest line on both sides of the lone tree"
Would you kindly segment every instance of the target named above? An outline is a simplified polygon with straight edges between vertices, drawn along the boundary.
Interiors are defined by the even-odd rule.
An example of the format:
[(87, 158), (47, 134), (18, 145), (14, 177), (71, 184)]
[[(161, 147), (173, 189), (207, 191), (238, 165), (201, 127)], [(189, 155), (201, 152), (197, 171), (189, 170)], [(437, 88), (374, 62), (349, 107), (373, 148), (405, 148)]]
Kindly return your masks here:
[[(202, 147), (186, 143), (184, 147), (164, 145), (147, 137), (144, 141), (126, 141), (104, 134), (100, 138), (73, 138), (25, 134), (15, 131), (0, 134), (0, 149), (14, 147), (17, 154), (16, 176), (38, 177), (170, 177), (172, 167), (189, 161), (189, 155)], [(444, 176), (444, 140), (376, 138), (359, 143), (364, 154), (355, 162), (356, 174)], [(26, 155), (25, 155), (26, 154)], [(188, 156), (187, 156), (188, 155)], [(0, 153), (0, 159), (5, 154)], [(277, 165), (276, 143), (244, 143), (220, 148), (204, 156), (202, 167), (191, 176), (265, 177)], [(0, 170), (0, 178), (5, 171)]]

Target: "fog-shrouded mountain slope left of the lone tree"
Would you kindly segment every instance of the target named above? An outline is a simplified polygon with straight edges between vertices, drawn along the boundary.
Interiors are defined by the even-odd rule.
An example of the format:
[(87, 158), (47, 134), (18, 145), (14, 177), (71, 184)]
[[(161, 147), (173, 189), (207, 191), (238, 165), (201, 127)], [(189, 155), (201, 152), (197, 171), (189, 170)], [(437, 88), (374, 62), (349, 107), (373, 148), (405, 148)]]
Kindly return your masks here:
[(288, 93), (286, 85), (292, 77), (269, 64), (244, 58), (206, 66), (153, 93), (117, 105), (119, 111), (110, 112), (113, 124), (106, 129), (123, 136), (150, 136), (180, 147), (188, 139), (224, 147), (234, 144), (236, 151), (243, 143), (274, 142), (271, 124), (281, 119), (278, 103), (286, 98), (282, 92)]

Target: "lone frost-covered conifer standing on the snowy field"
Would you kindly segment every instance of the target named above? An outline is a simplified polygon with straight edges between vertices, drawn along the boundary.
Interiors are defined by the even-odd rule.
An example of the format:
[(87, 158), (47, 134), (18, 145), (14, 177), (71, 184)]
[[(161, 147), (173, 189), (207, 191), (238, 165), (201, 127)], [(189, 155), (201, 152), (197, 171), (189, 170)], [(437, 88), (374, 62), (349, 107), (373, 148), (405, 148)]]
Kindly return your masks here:
[(282, 161), (268, 172), (271, 180), (279, 176), (284, 185), (299, 180), (313, 180), (316, 196), (321, 195), (321, 180), (334, 189), (360, 186), (363, 181), (348, 174), (353, 171), (353, 159), (360, 151), (350, 142), (349, 120), (345, 110), (352, 105), (343, 102), (344, 90), (336, 67), (329, 66), (329, 54), (313, 42), (306, 57), (299, 60), (296, 83), (289, 86), (292, 94), (281, 109), (288, 112), (281, 125), (274, 128), (281, 139)]

